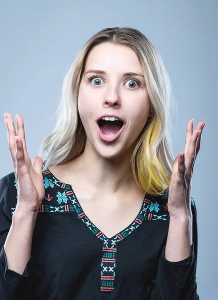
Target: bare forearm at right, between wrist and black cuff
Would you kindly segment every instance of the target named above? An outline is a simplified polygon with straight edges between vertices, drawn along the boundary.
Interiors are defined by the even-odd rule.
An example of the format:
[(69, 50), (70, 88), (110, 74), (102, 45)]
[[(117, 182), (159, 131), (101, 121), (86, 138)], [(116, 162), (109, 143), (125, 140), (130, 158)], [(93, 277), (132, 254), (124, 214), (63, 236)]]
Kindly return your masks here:
[(192, 245), (192, 215), (171, 217), (165, 246), (165, 258), (180, 261), (187, 258)]

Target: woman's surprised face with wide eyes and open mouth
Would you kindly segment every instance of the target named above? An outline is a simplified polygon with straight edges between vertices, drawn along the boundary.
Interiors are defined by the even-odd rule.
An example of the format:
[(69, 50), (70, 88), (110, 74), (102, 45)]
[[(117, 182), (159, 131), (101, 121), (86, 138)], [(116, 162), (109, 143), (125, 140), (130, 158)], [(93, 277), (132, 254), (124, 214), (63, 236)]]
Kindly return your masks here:
[[(78, 112), (87, 135), (86, 147), (104, 158), (117, 157), (134, 146), (150, 115), (143, 75), (124, 74), (129, 72), (142, 75), (137, 55), (128, 46), (101, 43), (87, 56), (79, 86)], [(120, 122), (101, 121), (105, 135), (98, 125), (101, 116), (111, 114), (123, 120), (118, 137)]]

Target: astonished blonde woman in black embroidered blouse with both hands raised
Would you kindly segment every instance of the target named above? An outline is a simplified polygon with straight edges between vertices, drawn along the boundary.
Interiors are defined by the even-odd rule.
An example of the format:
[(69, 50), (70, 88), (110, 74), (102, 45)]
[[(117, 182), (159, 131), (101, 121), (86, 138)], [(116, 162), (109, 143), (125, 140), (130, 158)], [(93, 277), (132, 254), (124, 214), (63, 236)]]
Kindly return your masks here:
[(14, 171), (0, 179), (1, 299), (199, 299), (191, 177), (205, 122), (188, 121), (173, 160), (170, 99), (154, 46), (114, 27), (69, 68), (32, 164), (21, 115), (16, 131), (5, 113)]

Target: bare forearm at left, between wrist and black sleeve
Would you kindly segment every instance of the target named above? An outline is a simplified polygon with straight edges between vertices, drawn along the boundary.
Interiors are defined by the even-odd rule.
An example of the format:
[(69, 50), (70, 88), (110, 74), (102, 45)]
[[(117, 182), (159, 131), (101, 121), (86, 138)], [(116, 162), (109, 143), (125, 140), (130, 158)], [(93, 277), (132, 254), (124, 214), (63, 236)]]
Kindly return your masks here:
[(23, 273), (31, 255), (32, 234), (36, 217), (36, 213), (15, 210), (4, 243), (8, 269), (20, 274)]

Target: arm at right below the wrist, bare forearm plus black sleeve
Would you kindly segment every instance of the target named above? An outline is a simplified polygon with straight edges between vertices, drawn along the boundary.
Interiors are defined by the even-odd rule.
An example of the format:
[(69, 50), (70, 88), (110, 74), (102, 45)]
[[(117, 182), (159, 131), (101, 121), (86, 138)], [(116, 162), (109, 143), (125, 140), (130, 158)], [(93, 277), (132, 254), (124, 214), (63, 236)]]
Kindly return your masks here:
[[(193, 230), (193, 231), (192, 231)], [(196, 286), (197, 220), (194, 202), (189, 215), (169, 218), (163, 247), (152, 287), (152, 300), (198, 300)]]

